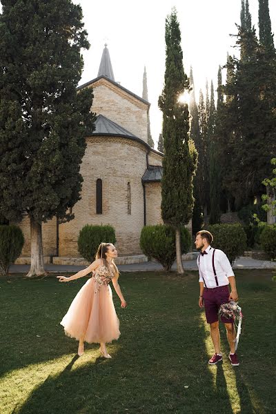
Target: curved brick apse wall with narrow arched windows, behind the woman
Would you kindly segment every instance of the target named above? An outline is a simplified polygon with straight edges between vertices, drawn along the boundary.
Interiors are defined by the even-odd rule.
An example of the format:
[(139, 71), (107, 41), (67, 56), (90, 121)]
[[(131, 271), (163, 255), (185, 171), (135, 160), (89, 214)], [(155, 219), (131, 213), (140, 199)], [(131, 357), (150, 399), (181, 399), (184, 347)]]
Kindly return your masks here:
[[(86, 224), (115, 227), (120, 256), (139, 255), (139, 237), (144, 226), (144, 193), (141, 177), (146, 170), (146, 148), (128, 139), (93, 137), (87, 139), (81, 164), (81, 200), (72, 212), (75, 219), (59, 225), (59, 256), (79, 257), (77, 238)], [(103, 214), (96, 214), (96, 181), (103, 184)], [(128, 214), (130, 183), (131, 214)], [(159, 199), (156, 201), (159, 203)], [(153, 198), (150, 203), (154, 203)]]

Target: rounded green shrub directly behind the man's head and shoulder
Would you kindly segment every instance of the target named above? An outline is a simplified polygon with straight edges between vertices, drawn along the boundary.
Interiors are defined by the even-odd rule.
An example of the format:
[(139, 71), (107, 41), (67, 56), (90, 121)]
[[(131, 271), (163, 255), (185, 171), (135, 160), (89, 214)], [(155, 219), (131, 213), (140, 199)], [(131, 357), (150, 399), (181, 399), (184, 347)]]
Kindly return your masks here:
[(242, 224), (214, 224), (208, 226), (208, 230), (214, 237), (212, 246), (223, 250), (231, 264), (244, 254), (246, 233)]

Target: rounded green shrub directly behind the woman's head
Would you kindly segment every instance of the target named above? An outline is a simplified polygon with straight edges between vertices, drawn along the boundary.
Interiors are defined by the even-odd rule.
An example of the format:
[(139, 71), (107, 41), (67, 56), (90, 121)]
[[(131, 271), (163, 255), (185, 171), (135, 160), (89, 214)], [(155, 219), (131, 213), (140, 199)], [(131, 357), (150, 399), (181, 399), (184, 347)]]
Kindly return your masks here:
[(115, 228), (106, 226), (92, 226), (86, 224), (79, 232), (78, 250), (88, 262), (93, 262), (101, 243), (116, 243)]

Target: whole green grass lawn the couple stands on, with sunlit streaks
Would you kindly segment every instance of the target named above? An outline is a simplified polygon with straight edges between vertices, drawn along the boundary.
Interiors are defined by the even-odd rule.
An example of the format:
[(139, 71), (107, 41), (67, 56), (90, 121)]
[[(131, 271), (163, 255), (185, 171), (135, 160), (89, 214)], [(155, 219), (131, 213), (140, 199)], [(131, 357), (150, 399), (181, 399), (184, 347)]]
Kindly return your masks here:
[(86, 278), (0, 280), (0, 413), (275, 413), (272, 270), (237, 270), (244, 313), (240, 366), (213, 353), (199, 310), (197, 273), (123, 273), (128, 308), (115, 306), (121, 337), (103, 359), (97, 344), (77, 357), (59, 322)]

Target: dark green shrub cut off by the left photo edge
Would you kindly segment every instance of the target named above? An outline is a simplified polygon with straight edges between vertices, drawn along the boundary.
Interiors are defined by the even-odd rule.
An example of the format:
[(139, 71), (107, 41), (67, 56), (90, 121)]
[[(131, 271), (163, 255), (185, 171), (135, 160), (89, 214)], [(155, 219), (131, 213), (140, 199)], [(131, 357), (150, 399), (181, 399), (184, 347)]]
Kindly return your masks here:
[(21, 255), (24, 236), (21, 228), (14, 226), (0, 226), (0, 273), (8, 275), (10, 265)]

